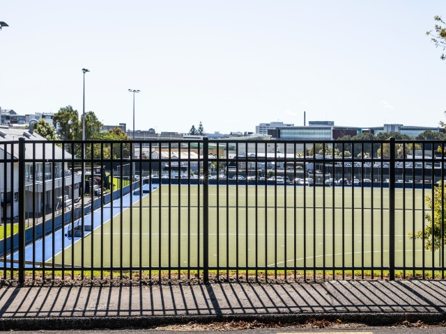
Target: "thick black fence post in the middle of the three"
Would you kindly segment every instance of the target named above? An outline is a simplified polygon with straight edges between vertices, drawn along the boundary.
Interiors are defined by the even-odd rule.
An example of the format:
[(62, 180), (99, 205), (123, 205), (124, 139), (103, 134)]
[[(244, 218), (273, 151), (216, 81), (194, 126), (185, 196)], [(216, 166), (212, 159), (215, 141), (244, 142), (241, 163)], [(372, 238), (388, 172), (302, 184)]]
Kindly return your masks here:
[(209, 281), (209, 138), (203, 137), (203, 282)]

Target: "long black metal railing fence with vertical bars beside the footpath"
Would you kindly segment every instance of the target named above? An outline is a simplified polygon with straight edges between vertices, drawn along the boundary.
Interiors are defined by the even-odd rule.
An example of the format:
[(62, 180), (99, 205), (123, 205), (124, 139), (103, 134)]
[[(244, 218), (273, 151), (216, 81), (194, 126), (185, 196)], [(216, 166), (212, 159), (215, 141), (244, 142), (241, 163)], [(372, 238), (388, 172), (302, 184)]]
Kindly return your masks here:
[(0, 272), (445, 278), (443, 141), (0, 143)]

